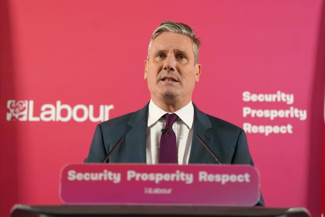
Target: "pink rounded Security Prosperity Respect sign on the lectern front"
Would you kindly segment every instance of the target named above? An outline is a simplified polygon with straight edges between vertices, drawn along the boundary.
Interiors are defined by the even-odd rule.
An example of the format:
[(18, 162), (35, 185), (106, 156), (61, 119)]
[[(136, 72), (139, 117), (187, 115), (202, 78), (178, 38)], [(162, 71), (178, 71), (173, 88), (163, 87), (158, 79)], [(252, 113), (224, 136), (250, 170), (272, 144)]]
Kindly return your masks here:
[(250, 165), (71, 164), (62, 168), (63, 202), (253, 206), (259, 175)]

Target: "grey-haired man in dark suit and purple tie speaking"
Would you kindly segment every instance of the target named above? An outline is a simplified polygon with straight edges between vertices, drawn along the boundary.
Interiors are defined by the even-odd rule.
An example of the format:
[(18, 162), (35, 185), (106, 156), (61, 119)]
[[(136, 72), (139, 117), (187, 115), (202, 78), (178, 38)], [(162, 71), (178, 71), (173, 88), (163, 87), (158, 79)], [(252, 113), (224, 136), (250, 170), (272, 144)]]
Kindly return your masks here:
[[(253, 165), (245, 132), (203, 113), (191, 101), (201, 75), (199, 46), (200, 41), (186, 24), (165, 21), (159, 25), (145, 60), (150, 102), (136, 112), (100, 123), (85, 162), (102, 162), (124, 138), (108, 162), (215, 164), (199, 136), (222, 163)], [(175, 119), (166, 124), (170, 116)], [(264, 205), (262, 197), (258, 204)]]

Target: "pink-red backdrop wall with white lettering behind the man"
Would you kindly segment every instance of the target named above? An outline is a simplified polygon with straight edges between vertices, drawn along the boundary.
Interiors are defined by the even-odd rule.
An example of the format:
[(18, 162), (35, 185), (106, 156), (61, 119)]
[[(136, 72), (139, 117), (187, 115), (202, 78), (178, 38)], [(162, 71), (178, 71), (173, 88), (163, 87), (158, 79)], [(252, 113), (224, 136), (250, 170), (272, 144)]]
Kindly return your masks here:
[[(203, 70), (193, 95), (201, 110), (240, 127), (292, 126), (268, 136), (247, 133), (266, 205), (305, 206), (319, 216), (323, 5), (321, 0), (1, 1), (0, 215), (8, 216), (15, 203), (61, 203), (59, 171), (83, 162), (98, 123), (88, 112), (112, 118), (149, 101), (143, 79), (148, 41), (161, 21), (175, 20), (202, 39)], [(294, 102), (245, 102), (245, 91), (281, 91)], [(57, 104), (65, 105), (61, 112)], [(101, 106), (107, 112), (100, 112)], [(273, 120), (244, 116), (244, 107), (261, 110), (259, 115), (271, 109), (281, 115), (293, 107), (306, 118), (299, 112)]]

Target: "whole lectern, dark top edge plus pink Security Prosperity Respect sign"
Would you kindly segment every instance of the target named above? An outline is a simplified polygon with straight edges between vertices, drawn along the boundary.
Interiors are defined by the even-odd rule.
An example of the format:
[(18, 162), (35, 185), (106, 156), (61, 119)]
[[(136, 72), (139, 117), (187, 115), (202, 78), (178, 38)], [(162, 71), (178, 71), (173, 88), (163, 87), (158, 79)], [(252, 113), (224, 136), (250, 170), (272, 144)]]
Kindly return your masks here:
[(59, 195), (66, 205), (17, 204), (11, 216), (310, 216), (253, 206), (259, 182), (250, 165), (72, 164), (61, 170)]

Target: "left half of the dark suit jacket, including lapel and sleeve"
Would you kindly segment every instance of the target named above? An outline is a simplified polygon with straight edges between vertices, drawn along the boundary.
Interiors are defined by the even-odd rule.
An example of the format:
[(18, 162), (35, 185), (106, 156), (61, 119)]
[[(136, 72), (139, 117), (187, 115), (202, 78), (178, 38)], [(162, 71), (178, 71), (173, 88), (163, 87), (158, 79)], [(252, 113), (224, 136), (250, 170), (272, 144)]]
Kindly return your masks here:
[(148, 104), (132, 113), (104, 121), (96, 126), (87, 163), (100, 163), (120, 138), (119, 148), (110, 157), (115, 163), (145, 163)]

